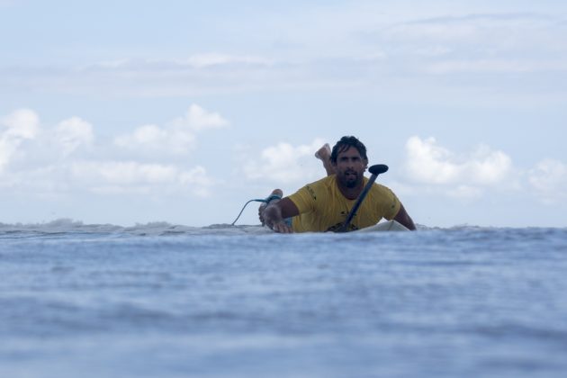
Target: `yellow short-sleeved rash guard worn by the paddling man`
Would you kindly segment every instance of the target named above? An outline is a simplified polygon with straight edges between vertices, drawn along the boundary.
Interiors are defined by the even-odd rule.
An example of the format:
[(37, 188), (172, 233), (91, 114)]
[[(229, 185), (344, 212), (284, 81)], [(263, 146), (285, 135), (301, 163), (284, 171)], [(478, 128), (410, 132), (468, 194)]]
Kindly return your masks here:
[[(364, 178), (364, 184), (368, 178)], [(300, 215), (293, 217), (293, 231), (322, 232), (338, 229), (345, 220), (356, 200), (348, 200), (340, 193), (337, 176), (329, 175), (319, 181), (307, 184), (288, 197), (295, 203)], [(398, 197), (387, 187), (373, 184), (366, 194), (348, 230), (373, 226), (385, 218), (392, 220), (400, 211)]]

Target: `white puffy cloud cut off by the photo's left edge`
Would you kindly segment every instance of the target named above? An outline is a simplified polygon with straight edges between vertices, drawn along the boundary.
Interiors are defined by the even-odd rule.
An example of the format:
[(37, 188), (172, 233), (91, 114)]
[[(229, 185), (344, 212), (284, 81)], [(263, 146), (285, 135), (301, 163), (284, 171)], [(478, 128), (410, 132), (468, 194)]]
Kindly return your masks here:
[(26, 139), (40, 133), (40, 117), (30, 109), (16, 110), (0, 119), (0, 174)]

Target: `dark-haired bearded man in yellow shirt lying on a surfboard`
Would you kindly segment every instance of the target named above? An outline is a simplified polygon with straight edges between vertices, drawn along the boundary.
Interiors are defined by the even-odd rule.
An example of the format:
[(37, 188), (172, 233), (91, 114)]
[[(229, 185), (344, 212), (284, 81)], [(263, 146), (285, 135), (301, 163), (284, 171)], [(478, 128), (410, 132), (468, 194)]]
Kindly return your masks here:
[[(355, 137), (343, 137), (330, 153), (330, 165), (325, 164), (326, 150), (328, 154), (324, 146), (316, 156), (323, 161), (327, 177), (305, 185), (282, 200), (270, 202), (260, 211), (260, 218), (270, 229), (282, 233), (322, 232), (343, 225), (368, 182), (364, 176), (368, 166), (366, 148)], [(373, 226), (382, 218), (397, 220), (408, 229), (416, 229), (398, 197), (387, 187), (373, 184), (349, 230)]]

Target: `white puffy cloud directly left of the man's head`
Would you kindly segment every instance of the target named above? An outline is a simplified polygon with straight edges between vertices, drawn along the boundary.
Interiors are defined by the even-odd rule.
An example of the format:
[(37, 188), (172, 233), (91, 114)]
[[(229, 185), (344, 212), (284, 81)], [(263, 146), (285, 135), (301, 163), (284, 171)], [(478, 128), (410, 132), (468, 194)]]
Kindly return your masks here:
[(305, 157), (313, 158), (315, 151), (322, 145), (323, 139), (315, 139), (311, 145), (293, 146), (290, 143), (278, 143), (264, 148), (260, 161), (251, 161), (244, 166), (244, 173), (251, 180), (268, 180), (278, 184), (304, 182), (308, 178), (320, 177), (322, 171), (307, 172), (303, 167)]

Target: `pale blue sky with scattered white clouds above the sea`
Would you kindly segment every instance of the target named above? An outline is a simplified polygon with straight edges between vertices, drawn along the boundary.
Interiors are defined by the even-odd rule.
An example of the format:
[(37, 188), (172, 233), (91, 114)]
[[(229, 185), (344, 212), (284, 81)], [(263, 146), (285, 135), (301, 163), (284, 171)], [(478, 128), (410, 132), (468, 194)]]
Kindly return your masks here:
[(419, 224), (567, 227), (567, 2), (272, 3), (0, 0), (0, 223), (230, 223), (354, 135)]

